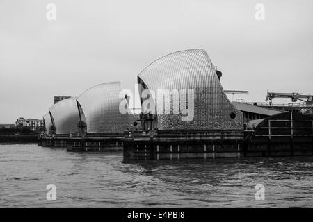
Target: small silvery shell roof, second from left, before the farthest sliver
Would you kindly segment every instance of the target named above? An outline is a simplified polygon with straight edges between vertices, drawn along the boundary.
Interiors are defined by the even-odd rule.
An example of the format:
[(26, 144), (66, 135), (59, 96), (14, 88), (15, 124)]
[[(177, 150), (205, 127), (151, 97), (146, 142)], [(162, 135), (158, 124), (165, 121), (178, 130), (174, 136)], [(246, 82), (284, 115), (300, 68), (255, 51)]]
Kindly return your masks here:
[(56, 134), (78, 133), (79, 112), (75, 97), (64, 99), (49, 109)]

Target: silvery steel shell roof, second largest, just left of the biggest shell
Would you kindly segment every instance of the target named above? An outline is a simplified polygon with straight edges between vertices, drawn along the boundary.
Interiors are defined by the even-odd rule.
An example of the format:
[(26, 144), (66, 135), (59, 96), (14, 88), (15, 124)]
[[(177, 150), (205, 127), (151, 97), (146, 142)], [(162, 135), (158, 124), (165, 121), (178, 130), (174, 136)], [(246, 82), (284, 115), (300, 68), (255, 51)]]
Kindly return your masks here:
[(87, 124), (87, 133), (122, 133), (136, 121), (133, 114), (121, 114), (120, 82), (96, 85), (77, 97)]

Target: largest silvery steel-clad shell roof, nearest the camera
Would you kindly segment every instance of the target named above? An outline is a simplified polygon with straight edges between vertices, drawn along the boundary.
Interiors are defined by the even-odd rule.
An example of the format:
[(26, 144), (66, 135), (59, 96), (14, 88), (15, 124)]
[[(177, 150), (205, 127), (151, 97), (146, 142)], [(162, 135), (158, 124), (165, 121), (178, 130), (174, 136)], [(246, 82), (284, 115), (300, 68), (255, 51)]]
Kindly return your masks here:
[[(203, 49), (178, 51), (159, 58), (138, 75), (138, 83), (142, 82), (154, 92), (157, 89), (195, 90), (193, 120), (182, 121), (182, 114), (158, 113), (159, 130), (243, 129), (243, 113), (227, 99), (215, 68)], [(155, 103), (158, 107), (157, 101)], [(235, 114), (234, 119), (231, 114), (232, 117)]]

